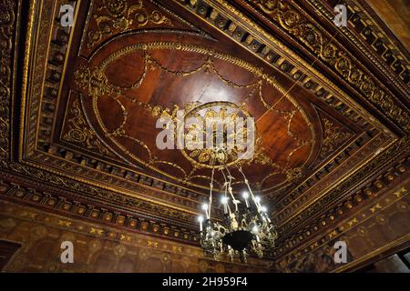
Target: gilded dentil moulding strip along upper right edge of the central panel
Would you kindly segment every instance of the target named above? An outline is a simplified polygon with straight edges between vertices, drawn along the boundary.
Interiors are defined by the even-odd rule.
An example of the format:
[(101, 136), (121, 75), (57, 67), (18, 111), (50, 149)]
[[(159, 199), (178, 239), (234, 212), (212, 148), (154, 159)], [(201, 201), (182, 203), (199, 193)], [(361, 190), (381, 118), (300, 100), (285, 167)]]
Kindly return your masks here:
[(244, 47), (266, 64), (288, 75), (294, 82), (313, 92), (355, 124), (366, 129), (370, 128), (369, 125), (373, 125), (384, 133), (395, 136), (322, 72), (315, 69), (300, 55), (294, 53), (233, 5), (223, 0), (199, 0), (192, 2), (193, 5), (190, 1), (185, 0), (174, 2)]

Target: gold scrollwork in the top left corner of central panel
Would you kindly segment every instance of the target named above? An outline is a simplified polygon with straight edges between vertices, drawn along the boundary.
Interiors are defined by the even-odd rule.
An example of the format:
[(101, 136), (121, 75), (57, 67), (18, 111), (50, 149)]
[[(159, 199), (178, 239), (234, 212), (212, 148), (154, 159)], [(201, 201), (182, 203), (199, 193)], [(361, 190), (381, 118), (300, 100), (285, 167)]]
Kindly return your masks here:
[(103, 11), (102, 15), (94, 15), (97, 30), (88, 33), (87, 47), (92, 48), (106, 35), (113, 34), (114, 31), (123, 33), (130, 30), (131, 25), (143, 27), (146, 25), (169, 25), (173, 26), (169, 18), (159, 10), (149, 11), (144, 6), (144, 0), (138, 0), (138, 4), (128, 5), (125, 0), (103, 0), (103, 4), (97, 11)]

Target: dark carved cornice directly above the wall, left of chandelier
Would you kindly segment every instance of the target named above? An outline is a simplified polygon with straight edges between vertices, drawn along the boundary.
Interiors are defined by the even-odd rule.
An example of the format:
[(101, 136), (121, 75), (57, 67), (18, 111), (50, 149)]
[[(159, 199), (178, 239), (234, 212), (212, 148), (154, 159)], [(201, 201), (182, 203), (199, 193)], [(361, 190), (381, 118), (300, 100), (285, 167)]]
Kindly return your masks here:
[[(179, 212), (169, 211), (160, 206), (154, 206), (151, 209), (151, 216), (149, 216), (149, 213), (146, 212), (147, 206), (138, 205), (138, 202), (132, 207), (132, 210), (118, 209), (118, 206), (101, 205), (97, 201), (82, 202), (84, 197), (73, 196), (73, 192), (71, 192), (73, 190), (62, 191), (61, 187), (34, 185), (21, 177), (3, 174), (1, 176), (1, 199), (36, 206), (45, 209), (46, 212), (55, 211), (62, 216), (81, 217), (99, 224), (124, 227), (128, 231), (163, 236), (190, 245), (198, 244), (198, 234), (191, 229), (189, 223), (191, 219), (195, 219), (195, 216), (180, 216)], [(38, 189), (34, 189), (35, 186), (38, 186)], [(137, 206), (141, 208), (139, 213), (135, 211)], [(177, 218), (179, 224), (169, 223), (164, 217), (159, 217), (159, 214), (169, 216), (171, 219)]]

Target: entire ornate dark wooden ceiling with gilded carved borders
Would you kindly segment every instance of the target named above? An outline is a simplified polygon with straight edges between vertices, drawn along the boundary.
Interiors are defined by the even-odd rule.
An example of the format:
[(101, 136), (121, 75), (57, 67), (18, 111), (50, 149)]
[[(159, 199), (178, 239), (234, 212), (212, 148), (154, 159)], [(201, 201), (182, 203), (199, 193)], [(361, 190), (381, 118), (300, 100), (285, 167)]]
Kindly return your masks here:
[(362, 1), (347, 2), (342, 29), (337, 1), (68, 3), (72, 27), (59, 22), (65, 1), (1, 8), (1, 176), (43, 193), (43, 205), (179, 227), (175, 238), (195, 242), (211, 156), (157, 148), (158, 117), (177, 109), (257, 120), (243, 169), (272, 209), (280, 246), (302, 243), (408, 155), (408, 51)]

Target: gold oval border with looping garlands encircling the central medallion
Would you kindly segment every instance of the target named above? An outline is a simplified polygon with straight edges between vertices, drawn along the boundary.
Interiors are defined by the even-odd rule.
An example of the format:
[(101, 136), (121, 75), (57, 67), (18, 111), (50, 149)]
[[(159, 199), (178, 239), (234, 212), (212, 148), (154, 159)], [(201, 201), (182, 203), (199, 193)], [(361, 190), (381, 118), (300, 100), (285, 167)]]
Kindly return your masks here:
[[(205, 55), (206, 57), (205, 57), (204, 62), (198, 67), (193, 68), (190, 71), (179, 71), (179, 70), (169, 69), (169, 67), (162, 65), (159, 62), (159, 60), (157, 60), (153, 55), (150, 54), (151, 50), (177, 50), (181, 52), (193, 52), (193, 53)], [(106, 75), (106, 70), (108, 66), (111, 65), (113, 62), (117, 61), (118, 59), (126, 55), (135, 53), (135, 52), (140, 52), (142, 59), (143, 59), (143, 71), (141, 75), (139, 75), (136, 78), (136, 80), (133, 81), (131, 85), (125, 86), (125, 85), (116, 85), (116, 84), (110, 83), (108, 80), (108, 76)], [(254, 75), (257, 78), (257, 80), (251, 84), (245, 84), (245, 85), (232, 82), (231, 80), (225, 78), (224, 76), (220, 74), (217, 67), (214, 65), (215, 60), (222, 60), (231, 65), (236, 65), (238, 67), (241, 67), (247, 70), (248, 72), (250, 72), (252, 75)], [(135, 98), (130, 97), (129, 95), (126, 94), (128, 90), (137, 89), (140, 85), (142, 85), (142, 83), (147, 77), (149, 70), (155, 70), (155, 69), (159, 69), (162, 72), (175, 75), (176, 77), (188, 77), (190, 75), (194, 75), (200, 72), (205, 72), (208, 74), (211, 73), (215, 75), (220, 80), (220, 82), (222, 82), (225, 85), (231, 86), (232, 88), (249, 89), (250, 93), (244, 97), (243, 101), (239, 105), (235, 105), (235, 106), (237, 107), (237, 109), (243, 108), (243, 110), (247, 112), (246, 103), (254, 95), (256, 95), (256, 96), (259, 96), (262, 105), (264, 105), (266, 109), (271, 110), (272, 112), (275, 112), (279, 115), (282, 115), (283, 118), (287, 120), (287, 124), (288, 124), (287, 134), (290, 137), (292, 137), (292, 139), (294, 139), (297, 143), (297, 146), (288, 156), (288, 162), (290, 162), (292, 155), (302, 146), (309, 146), (314, 143), (313, 125), (310, 122), (309, 118), (307, 117), (306, 113), (303, 111), (301, 106), (298, 105), (297, 102), (293, 99), (292, 95), (286, 92), (285, 89), (282, 87), (282, 85), (279, 85), (278, 82), (275, 80), (275, 78), (272, 75), (268, 75), (264, 73), (261, 67), (251, 65), (250, 63), (245, 62), (241, 60), (240, 58), (234, 57), (232, 55), (220, 53), (218, 51), (211, 49), (210, 47), (202, 46), (202, 45), (185, 45), (185, 44), (174, 43), (174, 42), (154, 42), (154, 43), (147, 43), (147, 44), (128, 45), (128, 46), (125, 46), (119, 49), (117, 52), (111, 55), (108, 55), (108, 57), (104, 59), (100, 65), (97, 65), (91, 68), (87, 66), (80, 66), (75, 72), (75, 80), (76, 80), (77, 86), (85, 90), (87, 95), (93, 98), (94, 113), (97, 116), (98, 123), (101, 125), (106, 135), (117, 146), (119, 146), (125, 153), (127, 153), (133, 159), (137, 160), (139, 163), (142, 163), (144, 166), (154, 167), (155, 165), (159, 165), (159, 164), (165, 165), (166, 164), (168, 166), (175, 167), (178, 170), (178, 172), (182, 174), (181, 181), (188, 181), (190, 180), (190, 178), (192, 178), (192, 176), (187, 175), (185, 170), (182, 169), (180, 166), (166, 162), (166, 161), (160, 161), (157, 156), (152, 155), (151, 151), (149, 150), (149, 147), (142, 140), (138, 139), (137, 137), (127, 135), (127, 133), (124, 130), (124, 126), (128, 122), (128, 112), (127, 112), (125, 105), (121, 101), (122, 98), (128, 98), (135, 105), (138, 105), (142, 108), (146, 108), (147, 110), (149, 110), (150, 114), (155, 118), (162, 116), (162, 117), (168, 117), (171, 120), (175, 119), (177, 112), (179, 110), (179, 105), (174, 105), (173, 108), (164, 108), (161, 105), (150, 105), (147, 103), (140, 102), (136, 100)], [(282, 109), (276, 108), (274, 105), (268, 104), (268, 102), (265, 101), (263, 94), (262, 94), (262, 86), (265, 84), (272, 85), (285, 98), (287, 98), (292, 103), (292, 105), (294, 105), (298, 110), (296, 109), (282, 110)], [(123, 113), (123, 122), (121, 123), (120, 126), (118, 126), (116, 130), (112, 132), (107, 131), (107, 128), (105, 128), (105, 125), (103, 124), (101, 117), (99, 116), (99, 113), (97, 110), (98, 98), (102, 95), (109, 95), (112, 98), (114, 98), (114, 100), (118, 103)], [(191, 109), (197, 106), (202, 106), (202, 105), (199, 105), (198, 102), (185, 105), (184, 106), (185, 113), (187, 114)], [(298, 112), (302, 114), (303, 118), (306, 121), (306, 124), (309, 126), (309, 129), (312, 133), (311, 140), (303, 140), (292, 133), (292, 130), (291, 130), (292, 119)], [(138, 146), (142, 146), (147, 151), (148, 160), (141, 160), (137, 156), (134, 156), (123, 146), (119, 145), (113, 139), (113, 137), (126, 137), (130, 140), (135, 141), (138, 144)], [(232, 154), (236, 155), (238, 153), (236, 154), (232, 153)], [(221, 155), (220, 153), (210, 153), (210, 151), (207, 151), (207, 150), (204, 150), (202, 152), (198, 152), (198, 151), (191, 152), (189, 155), (186, 155), (186, 157), (190, 160), (192, 166), (196, 168), (205, 166), (205, 163), (208, 163), (208, 166), (205, 166), (205, 167), (212, 167), (212, 165), (218, 160), (220, 162), (224, 160), (224, 162), (222, 163), (224, 164), (228, 162), (229, 159), (234, 158), (233, 156), (225, 156), (225, 155)], [(251, 160), (251, 162), (272, 166), (278, 169), (278, 171), (275, 171), (274, 173), (272, 173), (272, 175), (285, 174), (287, 178), (289, 179), (289, 181), (294, 181), (295, 179), (301, 177), (302, 172), (303, 172), (302, 168), (293, 169), (290, 166), (284, 166), (283, 168), (280, 168), (280, 166), (276, 165), (275, 163), (272, 163), (272, 160), (270, 159), (269, 156), (267, 156), (264, 153), (261, 146), (256, 146), (255, 155), (253, 159)], [(159, 169), (156, 168), (156, 170), (159, 170)], [(162, 174), (167, 175), (166, 173), (162, 173)], [(201, 177), (203, 178), (203, 176)], [(267, 176), (266, 179), (268, 177), (269, 176)]]

